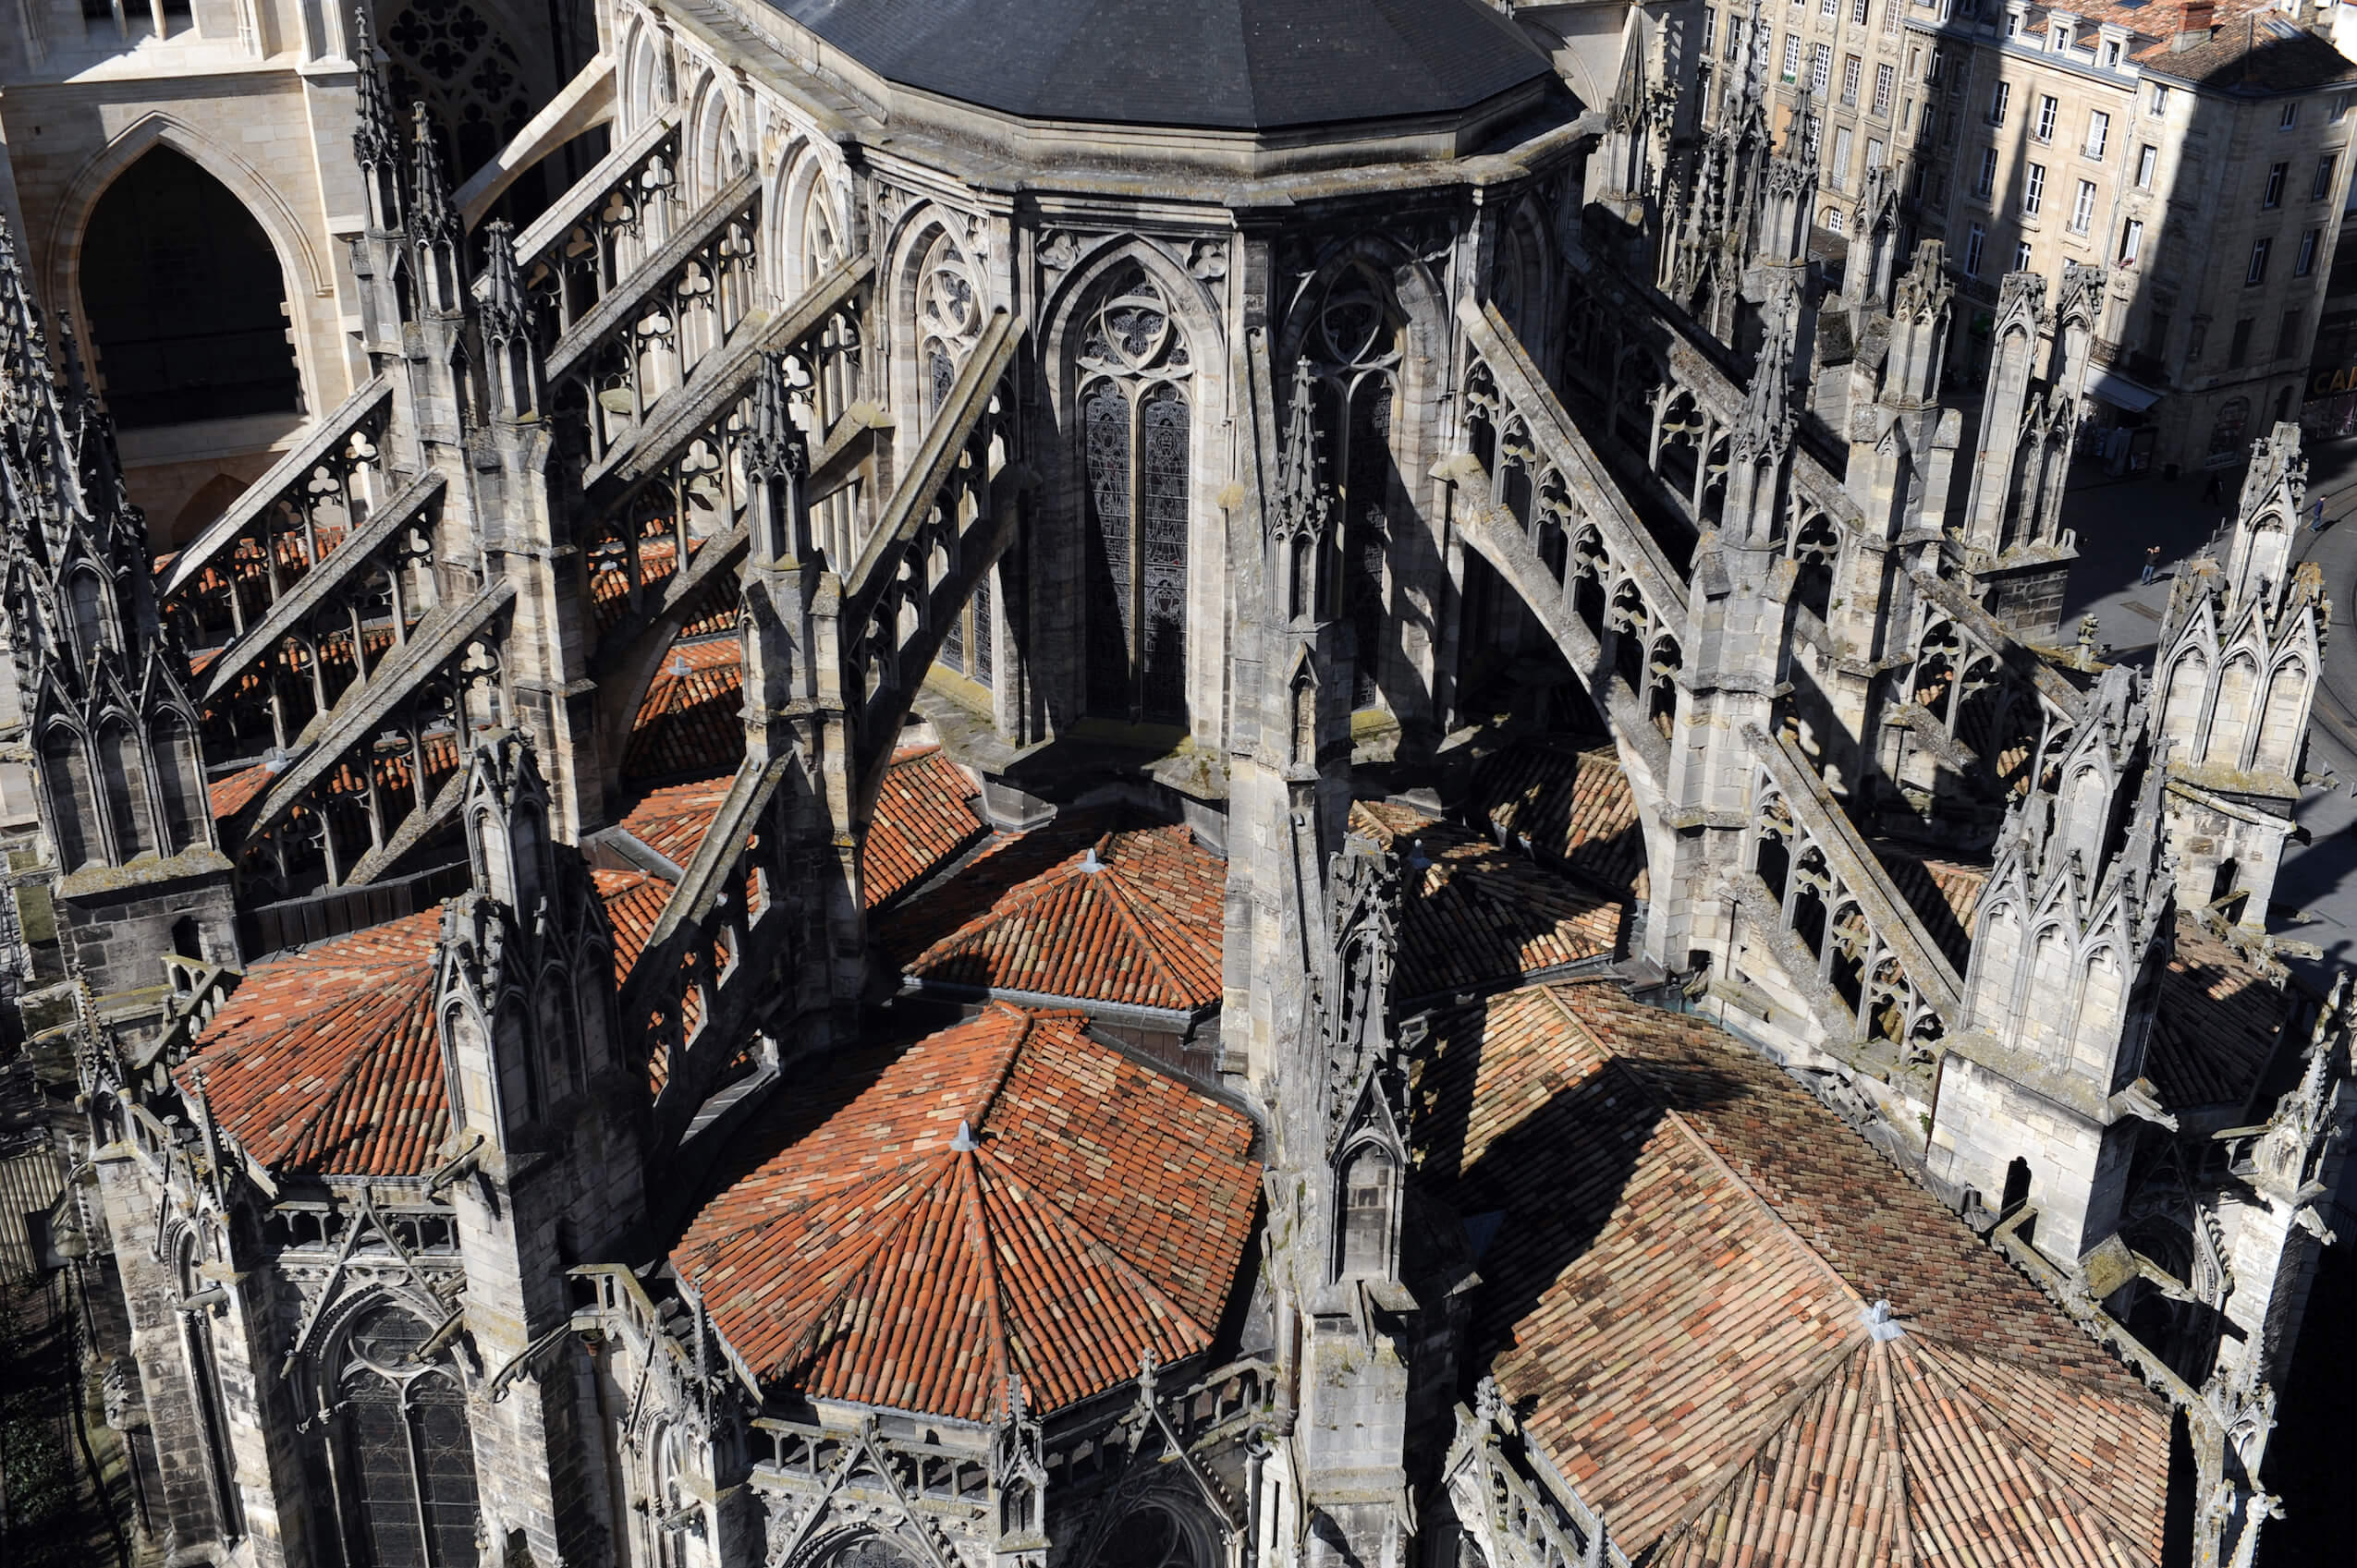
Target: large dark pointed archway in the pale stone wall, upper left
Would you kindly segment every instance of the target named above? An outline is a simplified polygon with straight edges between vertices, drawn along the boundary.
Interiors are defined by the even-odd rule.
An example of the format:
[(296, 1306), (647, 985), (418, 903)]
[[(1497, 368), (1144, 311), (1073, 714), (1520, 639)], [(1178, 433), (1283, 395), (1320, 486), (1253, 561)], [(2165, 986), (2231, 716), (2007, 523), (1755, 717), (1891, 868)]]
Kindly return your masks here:
[(123, 429), (302, 413), (285, 274), (219, 179), (158, 146), (82, 236), (82, 309)]

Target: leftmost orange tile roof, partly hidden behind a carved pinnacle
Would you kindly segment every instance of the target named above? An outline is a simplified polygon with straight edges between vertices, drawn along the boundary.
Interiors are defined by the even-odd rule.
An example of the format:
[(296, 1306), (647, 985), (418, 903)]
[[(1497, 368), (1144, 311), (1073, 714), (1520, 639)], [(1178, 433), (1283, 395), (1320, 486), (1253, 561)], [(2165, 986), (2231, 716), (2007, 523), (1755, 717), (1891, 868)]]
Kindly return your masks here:
[[(592, 872), (615, 971), (646, 943), (669, 884)], [(441, 905), (257, 962), (196, 1040), (184, 1078), (262, 1165), (311, 1177), (422, 1177), (450, 1134), (434, 1033)]]

